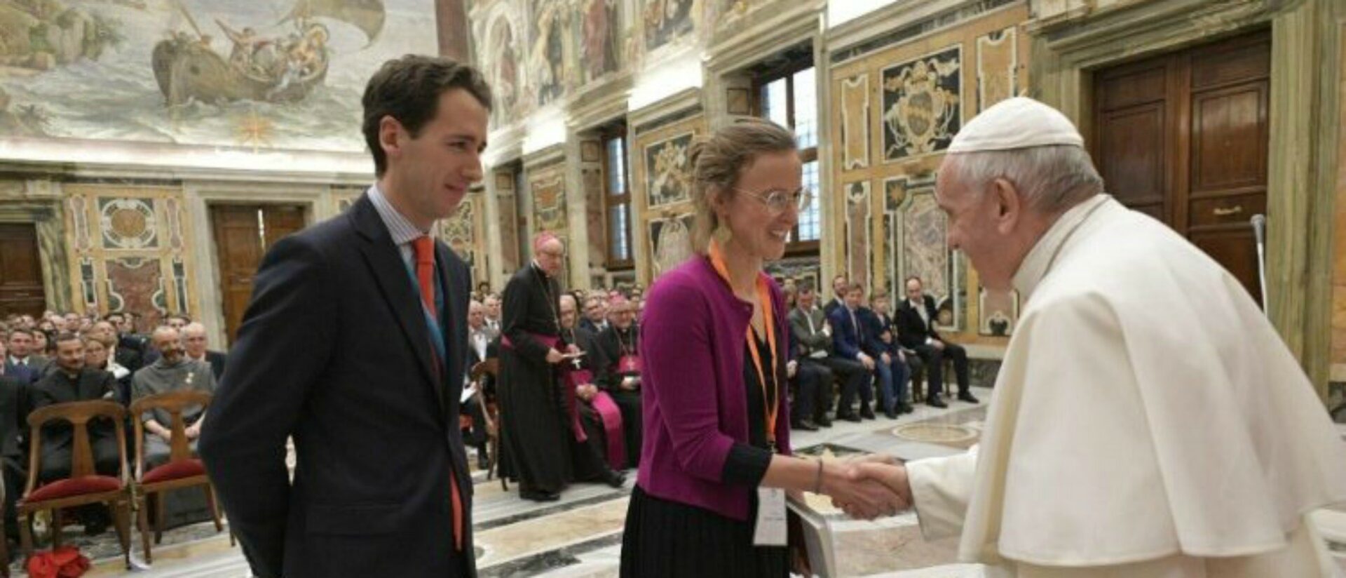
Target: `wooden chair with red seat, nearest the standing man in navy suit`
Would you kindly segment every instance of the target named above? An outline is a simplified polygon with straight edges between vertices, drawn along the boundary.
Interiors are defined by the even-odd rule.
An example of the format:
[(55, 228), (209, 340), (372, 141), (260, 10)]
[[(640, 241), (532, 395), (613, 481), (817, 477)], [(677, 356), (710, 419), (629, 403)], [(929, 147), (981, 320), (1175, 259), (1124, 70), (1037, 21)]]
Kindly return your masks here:
[[(136, 432), (136, 488), (140, 490), (141, 504), (136, 516), (136, 525), (140, 528), (140, 542), (145, 548), (145, 563), (153, 563), (149, 552), (149, 497), (155, 497), (155, 543), (163, 540), (164, 534), (164, 494), (179, 488), (201, 486), (206, 493), (206, 504), (210, 515), (215, 519), (215, 531), (222, 532), (225, 524), (219, 517), (219, 507), (215, 504), (215, 488), (206, 476), (206, 466), (191, 454), (191, 442), (187, 439), (187, 422), (183, 412), (187, 408), (201, 407), (205, 411), (210, 406), (210, 393), (202, 391), (175, 391), (168, 393), (151, 395), (137, 399), (131, 404), (132, 423)], [(164, 410), (172, 419), (172, 439), (168, 442), (168, 461), (145, 472), (145, 424), (141, 416), (152, 410)], [(229, 534), (229, 543), (234, 543), (233, 532)]]

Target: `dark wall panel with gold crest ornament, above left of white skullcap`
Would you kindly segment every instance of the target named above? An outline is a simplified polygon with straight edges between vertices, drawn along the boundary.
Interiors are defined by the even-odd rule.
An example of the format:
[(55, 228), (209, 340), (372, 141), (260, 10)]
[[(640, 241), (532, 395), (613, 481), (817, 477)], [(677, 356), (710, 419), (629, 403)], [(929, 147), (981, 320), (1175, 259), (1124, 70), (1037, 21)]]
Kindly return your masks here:
[(949, 147), (962, 119), (962, 46), (883, 69), (883, 159)]

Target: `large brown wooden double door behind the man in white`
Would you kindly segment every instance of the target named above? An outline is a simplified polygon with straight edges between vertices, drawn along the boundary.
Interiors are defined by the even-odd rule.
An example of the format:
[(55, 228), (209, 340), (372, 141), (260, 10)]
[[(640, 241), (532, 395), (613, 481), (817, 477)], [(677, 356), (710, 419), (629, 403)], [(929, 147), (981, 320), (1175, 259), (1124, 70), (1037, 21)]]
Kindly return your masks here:
[(1101, 70), (1090, 143), (1109, 193), (1186, 236), (1259, 300), (1250, 218), (1267, 213), (1269, 84), (1267, 31)]

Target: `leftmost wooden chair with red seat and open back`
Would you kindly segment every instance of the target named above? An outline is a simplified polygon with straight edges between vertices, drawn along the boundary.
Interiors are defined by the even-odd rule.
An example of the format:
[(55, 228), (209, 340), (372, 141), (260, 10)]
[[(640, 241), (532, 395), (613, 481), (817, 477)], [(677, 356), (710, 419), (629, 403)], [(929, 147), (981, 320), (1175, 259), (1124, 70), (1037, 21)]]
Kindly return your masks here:
[[(110, 419), (117, 434), (118, 473), (102, 476), (94, 470), (93, 446), (89, 442), (89, 420)], [(28, 451), (28, 486), (19, 500), (19, 538), (24, 556), (32, 555), (32, 513), (51, 511), (51, 543), (61, 546), (61, 509), (86, 504), (106, 504), (113, 511), (121, 554), (131, 570), (131, 492), (127, 477), (127, 431), (122, 422), (127, 410), (114, 402), (92, 400), (57, 403), (34, 410), (28, 415), (32, 441)], [(74, 453), (70, 457), (70, 477), (38, 486), (42, 472), (42, 426), (48, 422), (70, 422), (74, 427)]]

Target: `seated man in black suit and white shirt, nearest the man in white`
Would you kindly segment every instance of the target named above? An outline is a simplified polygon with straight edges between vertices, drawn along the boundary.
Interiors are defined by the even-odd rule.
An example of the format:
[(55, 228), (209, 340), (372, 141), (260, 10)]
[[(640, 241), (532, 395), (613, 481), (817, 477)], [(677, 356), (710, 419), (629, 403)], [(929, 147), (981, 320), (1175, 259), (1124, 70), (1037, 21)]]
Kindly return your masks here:
[(906, 283), (907, 298), (898, 307), (898, 341), (911, 349), (925, 361), (930, 380), (926, 403), (946, 407), (940, 393), (944, 392), (944, 360), (953, 360), (953, 372), (958, 376), (958, 399), (977, 403), (968, 389), (968, 352), (958, 344), (949, 344), (934, 330), (938, 311), (934, 298), (921, 287), (921, 278), (910, 278)]

